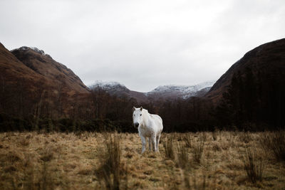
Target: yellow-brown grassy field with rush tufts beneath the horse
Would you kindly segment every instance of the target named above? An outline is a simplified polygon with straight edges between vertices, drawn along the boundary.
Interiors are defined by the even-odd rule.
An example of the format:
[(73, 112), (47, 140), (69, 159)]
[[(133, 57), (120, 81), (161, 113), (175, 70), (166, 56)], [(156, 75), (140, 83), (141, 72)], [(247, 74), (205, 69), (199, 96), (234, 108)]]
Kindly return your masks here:
[(1, 189), (285, 189), (284, 132), (0, 134)]

